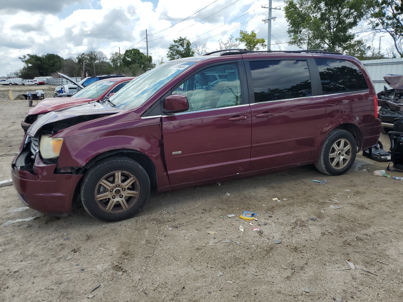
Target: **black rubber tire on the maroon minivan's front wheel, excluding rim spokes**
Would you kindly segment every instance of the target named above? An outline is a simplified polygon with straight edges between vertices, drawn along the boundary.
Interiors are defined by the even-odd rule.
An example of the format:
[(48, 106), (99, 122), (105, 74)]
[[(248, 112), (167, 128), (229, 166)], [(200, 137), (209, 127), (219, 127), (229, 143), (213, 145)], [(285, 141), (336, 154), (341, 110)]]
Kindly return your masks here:
[[(117, 188), (118, 186), (115, 185), (117, 181), (114, 179), (115, 184), (108, 183), (108, 185), (111, 185), (111, 188), (113, 186), (111, 190), (114, 190), (113, 192), (111, 191), (112, 193), (109, 193), (106, 189), (107, 186), (100, 184), (101, 180), (105, 179), (108, 175), (112, 175), (110, 177), (113, 178), (114, 172), (122, 172), (122, 175), (125, 173), (131, 174), (137, 181), (133, 182), (133, 188), (135, 184), (138, 185), (137, 200), (135, 200), (135, 197), (128, 197), (128, 199), (125, 200), (125, 205), (128, 206), (126, 210), (121, 202), (116, 202), (118, 199), (120, 200), (118, 194), (124, 194), (123, 185), (121, 187), (122, 191), (120, 191), (120, 188)], [(104, 191), (100, 192), (99, 188)], [(132, 192), (135, 191), (134, 189)], [(112, 197), (115, 198), (115, 195), (106, 197), (102, 201), (96, 201), (96, 192), (100, 192), (99, 194), (115, 194), (115, 192), (117, 192), (116, 201), (112, 200)], [(130, 190), (127, 189), (127, 192), (130, 192)], [(120, 197), (122, 196), (123, 195), (120, 195)], [(85, 173), (81, 184), (81, 201), (85, 210), (95, 219), (102, 221), (119, 221), (133, 217), (143, 208), (149, 196), (150, 179), (148, 178), (147, 172), (145, 172), (144, 168), (141, 167), (139, 163), (127, 157), (108, 157), (98, 161)], [(123, 197), (123, 199), (125, 198), (126, 197)], [(114, 205), (111, 210), (108, 211), (108, 206), (111, 201), (114, 201)], [(130, 205), (130, 203), (132, 204)]]

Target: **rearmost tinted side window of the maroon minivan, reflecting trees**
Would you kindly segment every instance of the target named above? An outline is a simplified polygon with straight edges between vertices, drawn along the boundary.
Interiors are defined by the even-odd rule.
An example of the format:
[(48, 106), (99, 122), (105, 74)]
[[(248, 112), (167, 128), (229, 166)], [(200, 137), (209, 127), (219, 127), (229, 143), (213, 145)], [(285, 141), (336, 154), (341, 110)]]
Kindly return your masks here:
[(368, 89), (367, 81), (355, 64), (337, 59), (316, 58), (324, 94)]

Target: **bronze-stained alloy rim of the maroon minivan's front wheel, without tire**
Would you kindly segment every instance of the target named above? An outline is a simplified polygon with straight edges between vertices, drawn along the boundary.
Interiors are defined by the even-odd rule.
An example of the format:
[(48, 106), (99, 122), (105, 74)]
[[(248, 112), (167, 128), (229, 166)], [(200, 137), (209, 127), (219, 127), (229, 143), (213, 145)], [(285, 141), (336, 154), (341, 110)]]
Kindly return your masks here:
[(127, 211), (139, 198), (140, 184), (132, 174), (115, 171), (104, 176), (95, 189), (95, 200), (105, 212)]

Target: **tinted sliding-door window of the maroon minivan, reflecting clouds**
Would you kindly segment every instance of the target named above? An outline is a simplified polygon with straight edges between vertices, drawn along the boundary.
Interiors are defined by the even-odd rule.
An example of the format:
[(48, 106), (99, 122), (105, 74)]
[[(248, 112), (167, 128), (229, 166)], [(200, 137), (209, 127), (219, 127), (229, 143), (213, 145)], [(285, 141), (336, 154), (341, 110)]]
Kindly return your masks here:
[(305, 60), (252, 61), (249, 64), (255, 102), (312, 95), (311, 80)]

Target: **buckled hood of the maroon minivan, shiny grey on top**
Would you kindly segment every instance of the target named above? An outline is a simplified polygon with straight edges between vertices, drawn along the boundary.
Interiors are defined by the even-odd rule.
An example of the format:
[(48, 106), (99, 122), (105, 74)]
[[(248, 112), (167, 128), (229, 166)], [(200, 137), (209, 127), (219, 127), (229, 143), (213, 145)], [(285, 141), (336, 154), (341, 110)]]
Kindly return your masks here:
[[(31, 125), (31, 127), (29, 127), (28, 135), (30, 137), (35, 137), (37, 136), (39, 130), (41, 130), (45, 125), (48, 124), (54, 125), (55, 122), (69, 120), (69, 123), (68, 122), (61, 123), (63, 125), (55, 127), (56, 129), (61, 130), (69, 126), (73, 126), (73, 124), (78, 124), (80, 122), (96, 119), (101, 116), (106, 116), (109, 114), (116, 114), (120, 111), (122, 111), (122, 109), (110, 107), (109, 105), (104, 105), (96, 101), (83, 105), (77, 105), (74, 107), (55, 110), (42, 116), (39, 116), (39, 118)], [(80, 117), (82, 117), (82, 119), (80, 119)]]

